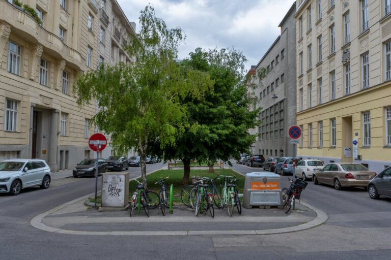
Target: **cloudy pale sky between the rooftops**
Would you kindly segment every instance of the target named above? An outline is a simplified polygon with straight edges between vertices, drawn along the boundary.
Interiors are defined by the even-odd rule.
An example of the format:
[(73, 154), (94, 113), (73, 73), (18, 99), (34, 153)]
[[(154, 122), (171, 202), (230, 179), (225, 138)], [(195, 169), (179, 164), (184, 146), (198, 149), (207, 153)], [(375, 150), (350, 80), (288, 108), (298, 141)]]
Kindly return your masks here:
[(280, 35), (282, 21), (293, 0), (117, 0), (128, 20), (136, 23), (150, 3), (168, 28), (180, 27), (186, 35), (178, 58), (195, 48), (235, 48), (256, 65)]

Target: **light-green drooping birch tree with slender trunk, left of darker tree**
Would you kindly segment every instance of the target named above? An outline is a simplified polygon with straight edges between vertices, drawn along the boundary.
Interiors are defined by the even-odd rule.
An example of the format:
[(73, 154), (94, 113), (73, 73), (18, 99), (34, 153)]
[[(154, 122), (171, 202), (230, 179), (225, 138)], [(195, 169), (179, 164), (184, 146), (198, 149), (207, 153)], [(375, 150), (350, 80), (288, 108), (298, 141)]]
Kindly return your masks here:
[(180, 97), (197, 99), (211, 83), (207, 75), (183, 70), (176, 61), (178, 45), (185, 38), (180, 28), (168, 29), (151, 6), (141, 11), (139, 24), (138, 34), (130, 36), (126, 47), (135, 62), (101, 64), (98, 70), (80, 75), (74, 90), (79, 105), (96, 100), (100, 110), (91, 121), (111, 137), (118, 152), (137, 147), (146, 184), (148, 140), (158, 140), (161, 147), (174, 145), (183, 128), (178, 123), (186, 113)]

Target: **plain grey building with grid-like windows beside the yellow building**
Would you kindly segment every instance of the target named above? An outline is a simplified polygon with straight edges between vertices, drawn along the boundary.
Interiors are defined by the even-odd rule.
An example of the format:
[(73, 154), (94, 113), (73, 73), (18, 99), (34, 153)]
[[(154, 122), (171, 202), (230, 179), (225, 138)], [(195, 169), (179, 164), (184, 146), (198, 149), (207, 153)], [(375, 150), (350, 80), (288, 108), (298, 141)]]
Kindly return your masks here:
[(258, 134), (253, 144), (253, 153), (271, 156), (292, 156), (293, 145), (288, 139), (288, 128), (296, 123), (296, 21), (293, 4), (278, 27), (281, 35), (273, 42), (265, 55), (248, 72), (258, 75), (266, 69), (262, 80), (253, 82), (257, 86), (254, 94), (257, 106), (262, 107), (261, 125), (249, 129)]

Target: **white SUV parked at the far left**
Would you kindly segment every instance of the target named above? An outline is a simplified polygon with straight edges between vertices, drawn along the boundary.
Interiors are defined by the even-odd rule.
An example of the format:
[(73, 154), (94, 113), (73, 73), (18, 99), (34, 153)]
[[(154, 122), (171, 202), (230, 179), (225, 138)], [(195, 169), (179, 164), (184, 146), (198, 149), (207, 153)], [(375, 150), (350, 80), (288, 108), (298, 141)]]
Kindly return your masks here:
[(50, 167), (41, 159), (7, 159), (0, 163), (0, 193), (17, 195), (23, 188), (50, 185)]

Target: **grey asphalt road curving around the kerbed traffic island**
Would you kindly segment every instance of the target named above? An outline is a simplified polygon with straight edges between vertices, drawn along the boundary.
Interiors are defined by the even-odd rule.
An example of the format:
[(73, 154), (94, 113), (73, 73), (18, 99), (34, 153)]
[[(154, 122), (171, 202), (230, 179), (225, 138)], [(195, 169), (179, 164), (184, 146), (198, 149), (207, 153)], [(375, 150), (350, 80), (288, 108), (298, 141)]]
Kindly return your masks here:
[[(148, 165), (147, 171), (162, 167)], [(239, 172), (252, 172), (234, 164)], [(130, 168), (132, 175), (135, 168)], [(283, 183), (288, 181), (283, 177)], [(363, 189), (334, 190), (310, 183), (302, 199), (329, 214), (311, 230), (267, 236), (79, 236), (48, 233), (30, 219), (94, 191), (93, 178), (55, 180), (46, 190), (0, 194), (0, 259), (389, 259), (391, 200)]]

